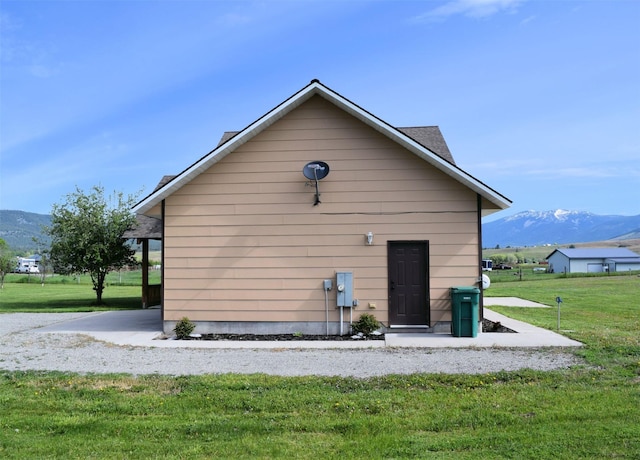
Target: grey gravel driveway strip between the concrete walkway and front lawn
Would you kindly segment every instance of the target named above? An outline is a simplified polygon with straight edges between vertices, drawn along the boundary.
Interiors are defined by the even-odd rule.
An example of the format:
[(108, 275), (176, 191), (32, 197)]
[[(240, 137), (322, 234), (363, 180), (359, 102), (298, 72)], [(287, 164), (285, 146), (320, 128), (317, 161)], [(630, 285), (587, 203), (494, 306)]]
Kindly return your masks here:
[(118, 346), (38, 328), (86, 313), (0, 315), (0, 369), (79, 373), (223, 374), (371, 377), (385, 374), (481, 374), (552, 370), (581, 364), (569, 350), (496, 348), (194, 349)]

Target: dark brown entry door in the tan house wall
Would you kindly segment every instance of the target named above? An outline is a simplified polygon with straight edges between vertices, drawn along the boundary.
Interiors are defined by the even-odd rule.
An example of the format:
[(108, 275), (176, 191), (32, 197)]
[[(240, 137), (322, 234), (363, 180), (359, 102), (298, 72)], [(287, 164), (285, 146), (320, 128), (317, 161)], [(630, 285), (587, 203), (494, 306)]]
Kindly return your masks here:
[(428, 241), (390, 241), (389, 325), (428, 326)]

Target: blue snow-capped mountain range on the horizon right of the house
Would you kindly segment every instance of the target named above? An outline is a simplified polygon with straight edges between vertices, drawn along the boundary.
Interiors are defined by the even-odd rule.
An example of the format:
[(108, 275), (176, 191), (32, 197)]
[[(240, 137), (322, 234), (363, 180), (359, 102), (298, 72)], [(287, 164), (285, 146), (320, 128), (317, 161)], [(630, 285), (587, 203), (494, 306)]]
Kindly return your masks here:
[(485, 248), (640, 238), (640, 215), (598, 215), (583, 211), (524, 211), (482, 224)]

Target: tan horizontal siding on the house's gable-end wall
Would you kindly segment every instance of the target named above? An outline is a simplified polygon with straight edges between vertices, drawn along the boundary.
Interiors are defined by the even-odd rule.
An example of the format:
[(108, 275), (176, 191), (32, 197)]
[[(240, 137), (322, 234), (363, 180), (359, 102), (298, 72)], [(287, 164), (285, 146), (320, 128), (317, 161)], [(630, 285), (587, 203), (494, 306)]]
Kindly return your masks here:
[[(302, 175), (329, 164), (320, 182)], [(428, 240), (431, 321), (478, 276), (476, 195), (315, 96), (166, 199), (166, 320), (324, 321), (322, 281), (387, 321), (387, 241)], [(374, 233), (374, 245), (364, 235)], [(445, 300), (445, 298), (447, 300)], [(329, 293), (336, 321), (335, 289)]]

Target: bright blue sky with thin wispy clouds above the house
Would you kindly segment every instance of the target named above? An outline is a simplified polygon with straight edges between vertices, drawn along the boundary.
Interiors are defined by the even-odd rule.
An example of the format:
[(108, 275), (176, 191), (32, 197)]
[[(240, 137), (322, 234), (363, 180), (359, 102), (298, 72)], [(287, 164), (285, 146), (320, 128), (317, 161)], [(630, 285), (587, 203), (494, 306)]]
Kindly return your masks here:
[(0, 209), (151, 192), (314, 78), (513, 200), (640, 214), (640, 2), (0, 3)]

